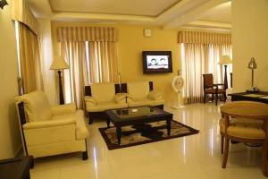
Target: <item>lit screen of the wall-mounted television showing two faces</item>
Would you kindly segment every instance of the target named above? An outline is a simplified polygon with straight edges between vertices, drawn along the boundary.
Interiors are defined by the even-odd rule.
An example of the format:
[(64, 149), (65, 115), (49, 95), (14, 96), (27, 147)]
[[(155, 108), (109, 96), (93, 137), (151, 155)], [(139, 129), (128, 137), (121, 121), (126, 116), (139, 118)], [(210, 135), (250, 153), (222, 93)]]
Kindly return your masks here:
[(147, 55), (148, 69), (168, 69), (169, 56), (168, 55)]

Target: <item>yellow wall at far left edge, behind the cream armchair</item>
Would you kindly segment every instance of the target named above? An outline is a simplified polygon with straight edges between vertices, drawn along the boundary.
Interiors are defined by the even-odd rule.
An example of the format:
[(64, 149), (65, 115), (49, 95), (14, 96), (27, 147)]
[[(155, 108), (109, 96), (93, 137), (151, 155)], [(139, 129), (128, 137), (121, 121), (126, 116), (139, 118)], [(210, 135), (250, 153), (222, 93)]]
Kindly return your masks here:
[[(10, 3), (10, 1), (8, 1)], [(13, 158), (21, 147), (19, 123), (14, 105), (17, 96), (17, 56), (11, 5), (0, 9), (0, 159)]]

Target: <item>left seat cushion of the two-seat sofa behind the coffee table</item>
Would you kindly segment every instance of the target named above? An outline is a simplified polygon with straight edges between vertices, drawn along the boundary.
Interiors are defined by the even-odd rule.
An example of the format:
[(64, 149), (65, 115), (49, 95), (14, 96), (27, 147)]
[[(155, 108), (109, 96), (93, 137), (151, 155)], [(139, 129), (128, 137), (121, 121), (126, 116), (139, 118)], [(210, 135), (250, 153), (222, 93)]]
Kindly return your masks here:
[(87, 105), (87, 111), (88, 112), (103, 112), (109, 109), (118, 109), (118, 108), (125, 108), (125, 107), (128, 107), (127, 103), (116, 103), (116, 102), (107, 101), (107, 102), (98, 102), (97, 105), (95, 106)]

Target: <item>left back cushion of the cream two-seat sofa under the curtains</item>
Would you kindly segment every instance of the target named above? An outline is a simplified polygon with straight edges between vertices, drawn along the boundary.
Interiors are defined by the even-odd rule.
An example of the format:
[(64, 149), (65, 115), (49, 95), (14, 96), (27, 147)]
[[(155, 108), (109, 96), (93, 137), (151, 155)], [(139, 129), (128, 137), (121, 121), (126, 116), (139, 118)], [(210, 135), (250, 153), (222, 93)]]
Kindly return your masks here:
[(114, 83), (98, 83), (90, 85), (92, 97), (96, 102), (113, 101)]

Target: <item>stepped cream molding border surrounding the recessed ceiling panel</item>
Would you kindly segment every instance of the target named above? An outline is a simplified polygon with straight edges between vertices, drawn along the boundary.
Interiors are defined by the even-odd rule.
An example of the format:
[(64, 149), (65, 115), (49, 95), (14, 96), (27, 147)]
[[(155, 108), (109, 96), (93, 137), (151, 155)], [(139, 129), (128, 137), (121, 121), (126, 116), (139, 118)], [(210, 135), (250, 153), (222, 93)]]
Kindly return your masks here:
[(218, 10), (223, 10), (227, 5), (230, 6), (230, 0), (180, 0), (158, 16), (53, 12), (48, 0), (27, 1), (37, 18), (53, 21), (121, 22), (157, 25), (162, 26), (163, 29), (175, 29), (186, 26), (211, 27), (222, 30), (231, 29), (231, 24), (228, 22), (205, 20), (205, 17), (210, 14), (213, 16)]

